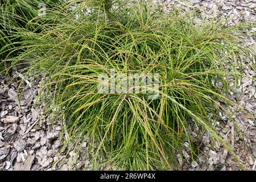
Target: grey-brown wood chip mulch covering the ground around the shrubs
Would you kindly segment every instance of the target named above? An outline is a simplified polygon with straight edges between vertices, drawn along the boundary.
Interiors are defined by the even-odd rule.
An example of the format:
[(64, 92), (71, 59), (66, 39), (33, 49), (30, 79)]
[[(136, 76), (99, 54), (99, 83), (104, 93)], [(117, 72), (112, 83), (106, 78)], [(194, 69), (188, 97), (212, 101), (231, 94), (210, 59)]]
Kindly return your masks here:
[[(256, 3), (253, 0), (155, 1), (155, 6), (160, 4), (165, 5), (164, 11), (171, 11), (174, 7), (184, 12), (197, 8), (209, 17), (237, 15), (229, 24), (256, 18)], [(253, 31), (256, 31), (256, 27)], [(255, 39), (247, 39), (246, 42), (256, 50)], [(247, 61), (243, 64), (246, 65)], [(249, 67), (244, 69), (244, 73), (256, 77), (255, 71)], [(23, 78), (18, 68), (13, 69), (10, 77), (0, 76), (0, 170), (82, 169), (89, 160), (82, 159), (81, 154), (76, 168), (69, 165), (76, 154), (75, 151), (61, 151), (61, 123), (44, 115), (47, 109), (44, 105), (35, 106), (40, 78), (31, 76), (19, 85)], [(240, 106), (253, 113), (256, 118), (256, 82), (245, 77), (236, 92), (229, 93), (230, 97), (240, 94)], [(178, 156), (183, 170), (239, 170), (242, 167), (246, 170), (256, 170), (256, 123), (253, 118), (239, 110), (234, 114), (234, 120), (243, 134), (242, 140), (233, 122), (224, 114), (220, 114), (222, 120), (218, 121), (215, 127), (225, 141), (232, 145), (240, 164), (221, 143), (210, 140), (208, 134), (205, 134), (200, 144), (199, 158), (192, 161), (186, 149), (183, 150), (184, 159)], [(191, 132), (196, 138), (197, 129), (191, 127)], [(65, 137), (68, 136), (63, 138)], [(81, 152), (85, 150), (86, 143), (82, 144)]]

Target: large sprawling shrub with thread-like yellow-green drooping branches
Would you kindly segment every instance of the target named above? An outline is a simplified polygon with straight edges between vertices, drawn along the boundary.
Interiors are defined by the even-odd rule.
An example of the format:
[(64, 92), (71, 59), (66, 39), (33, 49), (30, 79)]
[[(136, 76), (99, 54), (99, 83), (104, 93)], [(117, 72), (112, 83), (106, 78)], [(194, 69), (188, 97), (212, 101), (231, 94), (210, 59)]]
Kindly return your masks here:
[[(44, 75), (42, 90), (48, 92), (41, 96), (49, 95), (57, 121), (64, 118), (66, 145), (80, 150), (86, 141), (85, 158), (93, 169), (173, 169), (186, 141), (192, 159), (196, 155), (189, 125), (232, 152), (213, 125), (220, 111), (233, 121), (239, 106), (228, 98), (229, 82), (237, 85), (242, 60), (254, 67), (250, 53), (255, 52), (240, 37), (255, 38), (245, 31), (255, 22), (225, 26), (222, 19), (199, 23), (196, 18), (165, 14), (145, 3), (69, 1), (35, 19), (41, 31), (16, 28), (22, 53), (8, 61), (23, 61), (29, 65), (25, 72)], [(98, 93), (98, 75), (112, 69), (158, 73), (160, 98)]]

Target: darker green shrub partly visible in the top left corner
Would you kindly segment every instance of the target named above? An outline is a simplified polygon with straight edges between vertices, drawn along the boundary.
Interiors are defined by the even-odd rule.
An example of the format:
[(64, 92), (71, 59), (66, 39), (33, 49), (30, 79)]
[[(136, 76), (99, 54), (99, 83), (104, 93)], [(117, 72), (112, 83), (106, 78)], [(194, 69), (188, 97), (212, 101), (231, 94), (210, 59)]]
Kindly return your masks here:
[[(35, 30), (36, 26), (29, 24), (38, 16), (42, 4), (53, 8), (61, 0), (2, 0), (0, 5), (0, 59), (4, 59), (10, 50), (15, 48), (20, 37), (14, 36), (17, 28)], [(10, 55), (13, 56), (13, 55)]]

